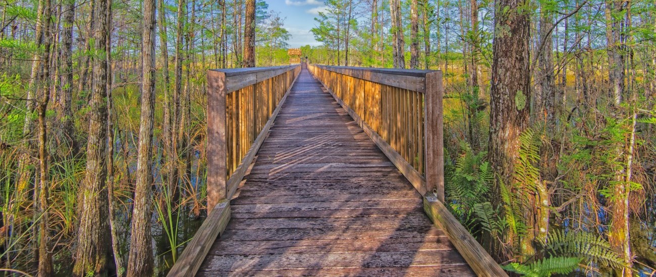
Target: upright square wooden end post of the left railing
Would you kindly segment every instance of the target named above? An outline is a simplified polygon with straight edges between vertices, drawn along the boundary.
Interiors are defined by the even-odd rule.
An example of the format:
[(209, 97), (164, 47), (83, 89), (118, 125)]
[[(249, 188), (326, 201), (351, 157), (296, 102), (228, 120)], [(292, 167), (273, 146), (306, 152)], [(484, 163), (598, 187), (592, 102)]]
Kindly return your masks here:
[(207, 213), (227, 196), (226, 73), (207, 71)]

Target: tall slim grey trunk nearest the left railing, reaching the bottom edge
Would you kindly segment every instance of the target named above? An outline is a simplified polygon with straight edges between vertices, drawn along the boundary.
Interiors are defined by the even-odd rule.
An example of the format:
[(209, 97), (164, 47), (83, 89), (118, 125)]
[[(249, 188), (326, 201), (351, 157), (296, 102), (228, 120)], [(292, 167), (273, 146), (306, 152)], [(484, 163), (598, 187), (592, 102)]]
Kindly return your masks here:
[(153, 274), (150, 187), (153, 184), (152, 140), (155, 113), (155, 0), (145, 0), (143, 9), (141, 119), (127, 276), (152, 276)]

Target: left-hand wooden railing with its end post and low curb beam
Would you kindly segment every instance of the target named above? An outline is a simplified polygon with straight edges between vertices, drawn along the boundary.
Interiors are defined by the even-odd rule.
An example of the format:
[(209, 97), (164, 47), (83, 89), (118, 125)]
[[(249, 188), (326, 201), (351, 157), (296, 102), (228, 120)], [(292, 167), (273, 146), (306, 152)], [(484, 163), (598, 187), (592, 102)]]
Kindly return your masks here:
[(234, 195), (300, 65), (214, 69), (207, 72), (207, 212), (169, 276), (194, 276), (230, 220)]

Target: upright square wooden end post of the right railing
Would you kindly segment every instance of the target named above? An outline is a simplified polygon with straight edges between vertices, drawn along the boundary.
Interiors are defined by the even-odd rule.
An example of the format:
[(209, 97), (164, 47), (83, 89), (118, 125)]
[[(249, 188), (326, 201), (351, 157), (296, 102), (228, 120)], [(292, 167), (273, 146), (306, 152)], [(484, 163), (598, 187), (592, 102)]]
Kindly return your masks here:
[(426, 73), (424, 138), (426, 141), (426, 193), (436, 191), (444, 202), (444, 138), (442, 71)]

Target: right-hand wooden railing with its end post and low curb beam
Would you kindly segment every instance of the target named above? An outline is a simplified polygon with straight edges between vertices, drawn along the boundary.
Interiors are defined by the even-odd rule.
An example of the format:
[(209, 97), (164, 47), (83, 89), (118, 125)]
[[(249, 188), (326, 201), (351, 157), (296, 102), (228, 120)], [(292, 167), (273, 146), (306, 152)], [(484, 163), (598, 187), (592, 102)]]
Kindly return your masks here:
[(424, 211), (478, 276), (507, 276), (444, 206), (441, 71), (308, 65), (422, 194)]

